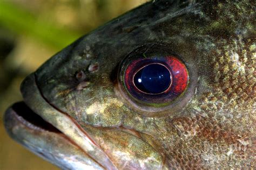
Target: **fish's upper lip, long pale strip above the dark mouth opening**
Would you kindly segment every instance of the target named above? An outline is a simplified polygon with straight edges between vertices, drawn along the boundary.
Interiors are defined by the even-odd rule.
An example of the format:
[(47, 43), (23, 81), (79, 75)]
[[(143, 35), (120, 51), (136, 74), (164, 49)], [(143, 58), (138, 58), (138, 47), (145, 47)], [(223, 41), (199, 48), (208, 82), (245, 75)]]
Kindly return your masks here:
[(93, 141), (80, 125), (58, 108), (48, 103), (42, 96), (41, 91), (36, 84), (35, 74), (26, 77), (21, 85), (24, 102), (36, 114), (42, 117), (46, 122), (55, 126), (59, 131), (65, 134), (70, 140), (78, 145), (86, 154), (96, 162), (107, 169), (117, 169), (104, 151)]

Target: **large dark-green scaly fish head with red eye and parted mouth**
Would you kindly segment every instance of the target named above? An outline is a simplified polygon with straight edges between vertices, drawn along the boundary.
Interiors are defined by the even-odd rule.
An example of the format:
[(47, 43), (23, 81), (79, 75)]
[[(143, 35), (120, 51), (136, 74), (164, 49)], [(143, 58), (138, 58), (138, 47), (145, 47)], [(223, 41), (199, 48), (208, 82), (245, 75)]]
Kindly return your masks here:
[(5, 129), (62, 169), (253, 169), (254, 6), (147, 2), (28, 75)]

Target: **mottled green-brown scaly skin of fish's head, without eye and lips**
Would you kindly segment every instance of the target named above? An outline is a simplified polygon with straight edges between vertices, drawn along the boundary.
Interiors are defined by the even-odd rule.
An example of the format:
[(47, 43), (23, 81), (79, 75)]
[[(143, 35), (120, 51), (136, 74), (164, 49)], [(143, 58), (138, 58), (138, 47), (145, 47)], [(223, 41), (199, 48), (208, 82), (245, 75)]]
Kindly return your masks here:
[[(138, 139), (142, 145), (120, 146), (120, 151), (160, 154), (152, 157), (164, 162), (164, 168), (253, 168), (254, 5), (254, 1), (146, 3), (53, 56), (36, 71), (37, 86), (46, 101), (89, 133), (117, 168), (129, 160), (118, 163), (109, 148)], [(184, 94), (164, 109), (146, 111), (147, 107), (131, 102), (118, 73), (122, 60), (145, 44), (165, 44), (184, 61), (190, 75)], [(95, 63), (99, 69), (90, 72)], [(80, 70), (86, 76), (83, 88), (78, 88), (81, 82), (76, 79)], [(23, 94), (28, 94), (26, 90), (29, 87), (23, 86)], [(28, 95), (24, 98), (31, 107)], [(52, 119), (50, 114), (39, 115)], [(57, 121), (51, 123), (58, 128)], [(127, 129), (136, 134), (129, 136)], [(150, 165), (146, 168), (153, 168)]]

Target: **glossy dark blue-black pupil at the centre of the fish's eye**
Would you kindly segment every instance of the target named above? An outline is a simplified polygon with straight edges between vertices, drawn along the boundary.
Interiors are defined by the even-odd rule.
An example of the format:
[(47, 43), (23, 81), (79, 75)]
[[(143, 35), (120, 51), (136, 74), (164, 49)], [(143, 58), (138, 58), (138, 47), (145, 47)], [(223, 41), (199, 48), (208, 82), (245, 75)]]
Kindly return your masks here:
[(169, 88), (171, 75), (163, 65), (147, 65), (134, 75), (135, 86), (144, 93), (158, 94)]

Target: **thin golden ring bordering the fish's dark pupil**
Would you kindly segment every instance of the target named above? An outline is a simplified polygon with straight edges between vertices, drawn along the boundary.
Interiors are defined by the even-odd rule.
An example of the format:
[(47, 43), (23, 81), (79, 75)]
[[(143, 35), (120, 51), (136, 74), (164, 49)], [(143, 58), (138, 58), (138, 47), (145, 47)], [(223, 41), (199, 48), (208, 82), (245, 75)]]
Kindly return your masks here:
[[(154, 94), (152, 94), (152, 93), (146, 93), (145, 91), (140, 90), (140, 89), (136, 86), (136, 84), (134, 83), (134, 77), (135, 77), (136, 74), (137, 74), (138, 72), (140, 72), (140, 70), (142, 70), (143, 68), (145, 68), (145, 67), (147, 67), (147, 66), (149, 66), (149, 65), (154, 65), (154, 64), (164, 66), (164, 67), (168, 70), (168, 72), (170, 73), (170, 80), (171, 80), (171, 81), (170, 81), (169, 87), (168, 87), (167, 89), (165, 89), (164, 91), (160, 92), (160, 93), (154, 93)], [(138, 69), (137, 72), (135, 72), (135, 73), (133, 74), (132, 83), (133, 83), (133, 86), (134, 86), (137, 90), (139, 90), (141, 93), (145, 93), (145, 94), (148, 94), (148, 95), (159, 95), (159, 94), (166, 93), (166, 91), (169, 91), (169, 90), (171, 89), (171, 86), (172, 86), (172, 73), (170, 72), (170, 69), (167, 68), (163, 63), (152, 62), (152, 63), (149, 63), (149, 64), (143, 66), (142, 68)]]

